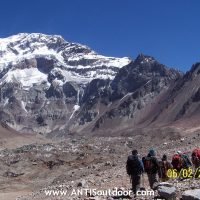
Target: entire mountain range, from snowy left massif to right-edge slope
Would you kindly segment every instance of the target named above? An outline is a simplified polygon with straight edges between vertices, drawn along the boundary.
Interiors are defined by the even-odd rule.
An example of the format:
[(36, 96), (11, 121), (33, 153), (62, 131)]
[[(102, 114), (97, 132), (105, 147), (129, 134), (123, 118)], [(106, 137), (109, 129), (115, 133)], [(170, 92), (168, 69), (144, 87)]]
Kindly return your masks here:
[[(61, 36), (0, 39), (0, 121), (20, 132), (117, 135), (198, 124), (199, 64), (106, 57)], [(191, 123), (190, 123), (191, 122)]]

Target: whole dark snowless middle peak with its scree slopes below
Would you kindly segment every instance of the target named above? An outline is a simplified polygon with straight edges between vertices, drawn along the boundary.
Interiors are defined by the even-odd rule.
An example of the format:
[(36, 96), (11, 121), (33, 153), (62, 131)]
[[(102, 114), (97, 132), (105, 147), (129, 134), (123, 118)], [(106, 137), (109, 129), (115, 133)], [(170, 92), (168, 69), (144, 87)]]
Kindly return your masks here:
[(93, 80), (88, 85), (74, 127), (84, 125), (81, 131), (114, 134), (147, 125), (147, 116), (156, 99), (181, 76), (180, 72), (167, 68), (153, 57), (139, 55), (121, 68), (112, 81)]

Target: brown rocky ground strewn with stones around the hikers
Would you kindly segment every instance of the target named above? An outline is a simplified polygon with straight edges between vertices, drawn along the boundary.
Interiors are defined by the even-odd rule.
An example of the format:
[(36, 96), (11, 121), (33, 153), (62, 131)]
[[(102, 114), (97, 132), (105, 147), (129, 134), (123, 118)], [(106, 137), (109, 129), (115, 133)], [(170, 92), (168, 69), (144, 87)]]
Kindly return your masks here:
[[(84, 189), (129, 190), (130, 179), (126, 174), (126, 159), (133, 148), (140, 156), (154, 147), (158, 158), (163, 153), (171, 157), (177, 150), (191, 152), (200, 146), (200, 131), (189, 136), (153, 142), (144, 136), (134, 137), (77, 137), (34, 143), (0, 151), (0, 199), (5, 200), (58, 200), (58, 199), (129, 199), (126, 197), (92, 196)], [(171, 184), (168, 186), (168, 184)], [(144, 175), (142, 185), (149, 189)], [(175, 189), (176, 199), (190, 189), (200, 189), (200, 179), (171, 179), (162, 184), (161, 190)], [(164, 188), (163, 188), (164, 187)], [(175, 187), (175, 188), (174, 188)], [(83, 195), (72, 195), (82, 189)], [(67, 191), (67, 195), (46, 195), (48, 191)], [(199, 191), (197, 191), (198, 193)], [(158, 191), (156, 191), (156, 196)], [(150, 196), (138, 199), (153, 199)], [(160, 197), (161, 199), (161, 197)], [(169, 198), (168, 198), (169, 199)], [(183, 198), (184, 199), (184, 198)], [(185, 198), (186, 199), (186, 198)], [(189, 197), (189, 199), (192, 199)], [(198, 199), (198, 198), (196, 198)]]

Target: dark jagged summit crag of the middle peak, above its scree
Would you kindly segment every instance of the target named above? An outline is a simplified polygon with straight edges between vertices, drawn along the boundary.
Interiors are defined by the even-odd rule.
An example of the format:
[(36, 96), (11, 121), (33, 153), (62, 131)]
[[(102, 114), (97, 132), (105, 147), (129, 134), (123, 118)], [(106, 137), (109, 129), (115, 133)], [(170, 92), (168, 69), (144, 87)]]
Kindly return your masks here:
[[(134, 62), (120, 69), (112, 82), (112, 98), (122, 98), (128, 92), (135, 92), (141, 86), (151, 85), (152, 90), (159, 90), (177, 78), (179, 73), (168, 69), (153, 57), (139, 55)], [(157, 87), (157, 88), (155, 88)]]

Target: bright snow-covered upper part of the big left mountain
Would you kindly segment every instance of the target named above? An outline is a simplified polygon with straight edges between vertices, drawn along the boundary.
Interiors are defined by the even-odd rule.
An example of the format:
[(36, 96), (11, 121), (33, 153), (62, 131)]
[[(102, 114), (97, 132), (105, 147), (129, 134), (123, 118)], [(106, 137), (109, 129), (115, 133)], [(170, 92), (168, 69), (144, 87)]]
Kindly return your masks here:
[[(38, 69), (41, 59), (43, 65), (51, 62), (48, 73), (46, 69)], [(129, 62), (128, 58), (99, 55), (87, 46), (67, 42), (58, 35), (21, 33), (0, 39), (1, 78), (4, 82), (18, 80), (23, 86), (30, 87), (42, 81), (49, 83), (49, 74), (59, 74), (60, 78), (55, 80), (59, 84), (67, 81), (87, 83), (95, 78), (113, 79), (118, 69)]]

